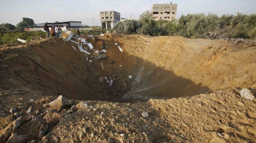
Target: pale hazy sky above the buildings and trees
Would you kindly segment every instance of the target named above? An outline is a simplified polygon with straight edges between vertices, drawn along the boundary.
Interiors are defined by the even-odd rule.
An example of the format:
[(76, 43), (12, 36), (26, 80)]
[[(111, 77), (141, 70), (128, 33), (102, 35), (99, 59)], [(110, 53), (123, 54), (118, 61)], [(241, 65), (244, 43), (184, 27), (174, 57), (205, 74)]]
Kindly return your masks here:
[(177, 15), (188, 13), (243, 14), (256, 13), (256, 0), (0, 0), (0, 24), (16, 25), (22, 17), (35, 23), (81, 21), (83, 25), (100, 25), (100, 10), (115, 10), (121, 17), (139, 15), (154, 3), (177, 3)]

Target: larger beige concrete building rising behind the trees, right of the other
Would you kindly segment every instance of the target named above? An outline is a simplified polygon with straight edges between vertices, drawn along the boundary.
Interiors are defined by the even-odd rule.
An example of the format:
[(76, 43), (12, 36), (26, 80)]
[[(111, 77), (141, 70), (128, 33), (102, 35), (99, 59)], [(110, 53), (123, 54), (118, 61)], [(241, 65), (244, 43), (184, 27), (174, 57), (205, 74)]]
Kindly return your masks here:
[(175, 19), (177, 12), (177, 4), (153, 4), (152, 5), (152, 17), (154, 20), (168, 20)]

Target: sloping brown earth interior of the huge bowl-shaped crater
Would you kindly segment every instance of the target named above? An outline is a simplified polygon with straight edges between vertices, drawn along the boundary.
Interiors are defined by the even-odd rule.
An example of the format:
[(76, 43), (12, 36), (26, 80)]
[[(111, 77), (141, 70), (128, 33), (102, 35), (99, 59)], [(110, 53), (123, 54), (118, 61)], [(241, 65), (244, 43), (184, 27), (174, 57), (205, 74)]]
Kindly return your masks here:
[[(108, 34), (100, 39), (106, 42), (106, 58), (92, 63), (76, 44), (57, 38), (56, 42), (3, 47), (0, 82), (70, 99), (118, 102), (255, 88), (254, 46), (164, 36)], [(101, 40), (93, 37), (89, 42), (101, 51)], [(99, 82), (100, 77), (119, 80), (109, 87), (106, 81)]]

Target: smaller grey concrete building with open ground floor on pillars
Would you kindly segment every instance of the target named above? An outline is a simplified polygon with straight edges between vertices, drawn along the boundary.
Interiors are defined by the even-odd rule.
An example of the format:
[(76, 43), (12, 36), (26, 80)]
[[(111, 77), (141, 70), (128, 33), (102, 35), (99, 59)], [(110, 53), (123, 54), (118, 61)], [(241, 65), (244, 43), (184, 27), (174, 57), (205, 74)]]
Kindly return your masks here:
[(100, 11), (100, 22), (102, 29), (113, 28), (118, 22), (120, 22), (120, 13), (114, 10), (112, 11)]

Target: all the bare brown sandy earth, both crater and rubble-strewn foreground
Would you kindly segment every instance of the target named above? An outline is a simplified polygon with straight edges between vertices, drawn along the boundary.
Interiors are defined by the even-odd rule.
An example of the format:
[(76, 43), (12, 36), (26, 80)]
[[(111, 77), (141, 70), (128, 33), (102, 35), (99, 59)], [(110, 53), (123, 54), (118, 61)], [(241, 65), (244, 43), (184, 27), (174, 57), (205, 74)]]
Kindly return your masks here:
[[(107, 58), (92, 63), (71, 48), (77, 45), (57, 38), (0, 48), (0, 142), (255, 142), (255, 99), (239, 96), (241, 88), (255, 94), (254, 44), (100, 38)], [(89, 42), (101, 50), (101, 40)], [(105, 76), (118, 80), (109, 87), (99, 82)], [(62, 109), (47, 109), (58, 95), (66, 100)], [(81, 100), (88, 107), (71, 112)]]

